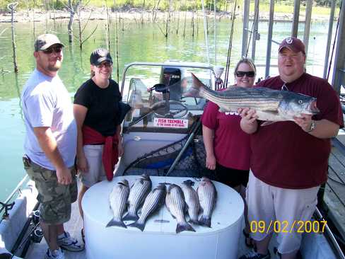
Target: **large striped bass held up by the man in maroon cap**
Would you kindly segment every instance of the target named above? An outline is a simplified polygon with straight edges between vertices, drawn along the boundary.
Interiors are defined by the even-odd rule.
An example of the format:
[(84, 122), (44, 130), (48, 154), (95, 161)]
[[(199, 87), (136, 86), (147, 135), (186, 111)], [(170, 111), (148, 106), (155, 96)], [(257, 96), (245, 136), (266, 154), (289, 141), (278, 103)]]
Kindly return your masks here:
[(291, 91), (272, 90), (265, 87), (231, 86), (226, 91), (213, 91), (194, 74), (193, 84), (186, 97), (211, 100), (219, 106), (220, 112), (237, 112), (238, 108), (252, 108), (257, 111), (258, 120), (271, 122), (294, 120), (300, 114), (315, 115), (320, 112), (316, 98)]

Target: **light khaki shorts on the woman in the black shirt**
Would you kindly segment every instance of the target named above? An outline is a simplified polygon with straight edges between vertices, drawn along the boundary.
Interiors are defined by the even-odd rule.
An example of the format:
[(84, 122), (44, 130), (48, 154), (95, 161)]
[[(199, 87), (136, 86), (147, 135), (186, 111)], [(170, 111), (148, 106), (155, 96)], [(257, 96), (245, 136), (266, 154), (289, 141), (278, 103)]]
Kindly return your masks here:
[(90, 188), (95, 183), (106, 180), (105, 170), (102, 161), (104, 145), (84, 145), (84, 154), (88, 161), (88, 172), (79, 171), (81, 183)]

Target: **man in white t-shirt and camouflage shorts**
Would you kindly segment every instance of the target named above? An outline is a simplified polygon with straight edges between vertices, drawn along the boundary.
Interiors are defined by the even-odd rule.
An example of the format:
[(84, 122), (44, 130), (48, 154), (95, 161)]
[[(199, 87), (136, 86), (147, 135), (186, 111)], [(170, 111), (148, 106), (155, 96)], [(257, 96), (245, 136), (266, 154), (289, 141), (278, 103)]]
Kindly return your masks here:
[(57, 75), (64, 45), (56, 35), (35, 40), (36, 69), (22, 93), (25, 120), (25, 171), (35, 181), (40, 226), (49, 248), (45, 258), (64, 258), (62, 249), (82, 251), (83, 245), (64, 231), (76, 201), (76, 122), (71, 98)]

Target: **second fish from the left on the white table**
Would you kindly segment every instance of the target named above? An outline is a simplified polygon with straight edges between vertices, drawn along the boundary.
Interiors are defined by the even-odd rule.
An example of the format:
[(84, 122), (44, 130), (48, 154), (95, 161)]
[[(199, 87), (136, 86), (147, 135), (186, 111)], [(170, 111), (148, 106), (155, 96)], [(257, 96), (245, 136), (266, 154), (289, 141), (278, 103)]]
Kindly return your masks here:
[(134, 220), (139, 219), (137, 211), (143, 204), (146, 195), (151, 190), (151, 179), (148, 175), (141, 175), (140, 178), (131, 185), (128, 197), (128, 213), (124, 216), (123, 220)]

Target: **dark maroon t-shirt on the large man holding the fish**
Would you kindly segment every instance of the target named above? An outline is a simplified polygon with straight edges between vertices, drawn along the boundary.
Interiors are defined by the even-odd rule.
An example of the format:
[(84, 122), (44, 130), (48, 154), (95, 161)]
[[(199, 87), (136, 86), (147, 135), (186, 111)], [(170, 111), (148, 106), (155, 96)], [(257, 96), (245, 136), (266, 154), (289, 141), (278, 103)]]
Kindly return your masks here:
[[(280, 90), (279, 76), (257, 86)], [(317, 98), (320, 113), (312, 120), (326, 119), (344, 127), (339, 96), (324, 79), (303, 74), (286, 84), (289, 91)], [(312, 188), (327, 180), (330, 139), (319, 139), (304, 132), (295, 122), (275, 122), (259, 126), (251, 134), (250, 168), (255, 177), (279, 188)]]

